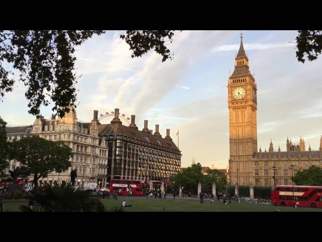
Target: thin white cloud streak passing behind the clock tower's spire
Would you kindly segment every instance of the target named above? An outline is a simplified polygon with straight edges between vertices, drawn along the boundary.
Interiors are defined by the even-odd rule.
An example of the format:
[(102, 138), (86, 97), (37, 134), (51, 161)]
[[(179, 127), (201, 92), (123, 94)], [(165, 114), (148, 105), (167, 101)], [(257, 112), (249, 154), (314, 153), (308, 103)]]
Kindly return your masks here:
[[(291, 47), (295, 46), (295, 43), (284, 42), (284, 43), (250, 43), (244, 44), (244, 48), (247, 50), (254, 50), (254, 49), (271, 49), (271, 48), (282, 48), (282, 47)], [(238, 50), (239, 44), (224, 44), (212, 49), (212, 52), (218, 51), (230, 51), (230, 50)]]

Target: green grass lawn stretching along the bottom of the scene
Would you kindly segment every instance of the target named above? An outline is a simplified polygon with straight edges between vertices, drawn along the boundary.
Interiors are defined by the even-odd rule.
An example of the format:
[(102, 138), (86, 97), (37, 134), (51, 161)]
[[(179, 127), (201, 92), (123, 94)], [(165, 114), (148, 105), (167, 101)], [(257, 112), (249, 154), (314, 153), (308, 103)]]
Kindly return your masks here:
[[(118, 200), (104, 199), (101, 200), (106, 208), (112, 206), (121, 206), (124, 199), (119, 197)], [(232, 203), (223, 204), (222, 201), (211, 204), (205, 200), (204, 204), (200, 204), (199, 200), (188, 199), (151, 199), (151, 198), (135, 198), (128, 199), (132, 207), (125, 208), (128, 212), (274, 212), (279, 209), (281, 212), (322, 212), (320, 208), (293, 208), (281, 207), (265, 204), (249, 204), (249, 203)], [(4, 212), (19, 212), (21, 205), (28, 205), (28, 202), (5, 202)]]

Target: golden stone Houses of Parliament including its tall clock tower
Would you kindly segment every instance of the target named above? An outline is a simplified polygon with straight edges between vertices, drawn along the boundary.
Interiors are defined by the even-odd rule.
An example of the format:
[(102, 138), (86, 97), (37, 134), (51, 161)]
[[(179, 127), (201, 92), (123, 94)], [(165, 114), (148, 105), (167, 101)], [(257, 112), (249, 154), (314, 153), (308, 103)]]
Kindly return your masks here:
[[(249, 59), (243, 46), (243, 36), (235, 57), (235, 66), (228, 81), (229, 109), (229, 177), (230, 184), (274, 186), (291, 185), (297, 171), (311, 165), (322, 166), (322, 137), (319, 151), (305, 149), (300, 138), (299, 145), (286, 140), (286, 151), (274, 151), (271, 140), (269, 150), (257, 146), (257, 84), (250, 73)], [(292, 165), (292, 166), (291, 166)], [(238, 181), (237, 181), (238, 177)]]

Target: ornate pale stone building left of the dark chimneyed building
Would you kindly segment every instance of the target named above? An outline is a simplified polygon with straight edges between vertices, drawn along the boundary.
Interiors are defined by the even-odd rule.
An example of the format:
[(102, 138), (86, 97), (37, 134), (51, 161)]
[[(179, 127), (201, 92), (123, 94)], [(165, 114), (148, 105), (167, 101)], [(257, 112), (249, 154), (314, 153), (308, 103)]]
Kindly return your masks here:
[(99, 136), (97, 117), (98, 111), (94, 111), (91, 123), (77, 122), (76, 110), (71, 108), (63, 118), (51, 119), (40, 116), (34, 122), (32, 135), (52, 141), (64, 141), (72, 149), (71, 167), (61, 174), (50, 173), (47, 178), (41, 180), (51, 181), (58, 179), (70, 179), (71, 169), (77, 170), (77, 184), (85, 187), (89, 183), (100, 183), (105, 186), (107, 174), (108, 149), (106, 141)]

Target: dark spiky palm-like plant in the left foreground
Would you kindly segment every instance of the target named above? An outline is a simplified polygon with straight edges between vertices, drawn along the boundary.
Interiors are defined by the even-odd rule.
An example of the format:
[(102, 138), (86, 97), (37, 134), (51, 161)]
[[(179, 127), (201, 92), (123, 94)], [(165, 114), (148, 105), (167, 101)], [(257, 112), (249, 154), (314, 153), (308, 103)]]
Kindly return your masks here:
[(27, 197), (35, 202), (33, 209), (21, 206), (24, 212), (104, 212), (101, 201), (91, 198), (91, 191), (74, 188), (66, 181), (55, 181), (31, 191)]

